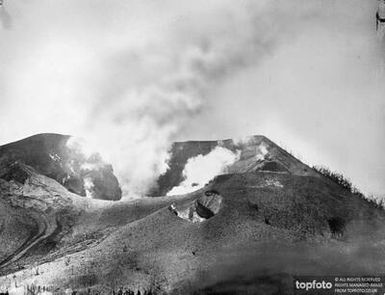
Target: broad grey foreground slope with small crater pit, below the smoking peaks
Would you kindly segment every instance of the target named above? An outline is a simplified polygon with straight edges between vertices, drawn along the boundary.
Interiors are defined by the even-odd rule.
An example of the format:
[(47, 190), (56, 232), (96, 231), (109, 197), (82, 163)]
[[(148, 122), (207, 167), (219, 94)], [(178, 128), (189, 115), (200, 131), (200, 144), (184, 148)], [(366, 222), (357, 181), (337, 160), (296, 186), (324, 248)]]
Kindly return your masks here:
[[(189, 153), (179, 155), (188, 160), (206, 144), (184, 143)], [(250, 155), (253, 145), (244, 147)], [(266, 150), (263, 160), (242, 151), (238, 163), (247, 164), (235, 162), (193, 193), (120, 202), (79, 197), (19, 165), (24, 182), (0, 179), (7, 242), (0, 286), (11, 294), (27, 285), (58, 294), (120, 286), (142, 294), (293, 294), (294, 275), (380, 273), (383, 209), (278, 147)], [(263, 161), (286, 171), (259, 169)]]

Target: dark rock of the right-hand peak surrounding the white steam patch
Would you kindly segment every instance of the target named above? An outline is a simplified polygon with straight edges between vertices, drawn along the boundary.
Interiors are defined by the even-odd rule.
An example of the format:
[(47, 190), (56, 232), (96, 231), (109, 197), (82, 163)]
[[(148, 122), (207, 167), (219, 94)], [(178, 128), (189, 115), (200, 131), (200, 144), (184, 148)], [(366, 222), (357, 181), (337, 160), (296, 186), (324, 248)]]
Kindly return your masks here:
[(268, 138), (260, 135), (249, 137), (240, 142), (232, 139), (176, 142), (171, 147), (169, 169), (159, 177), (156, 187), (149, 195), (154, 197), (166, 195), (173, 187), (183, 182), (183, 169), (189, 159), (198, 155), (205, 156), (216, 147), (223, 147), (234, 153), (240, 153), (239, 159), (228, 167), (228, 174), (260, 171), (320, 177), (312, 168)]

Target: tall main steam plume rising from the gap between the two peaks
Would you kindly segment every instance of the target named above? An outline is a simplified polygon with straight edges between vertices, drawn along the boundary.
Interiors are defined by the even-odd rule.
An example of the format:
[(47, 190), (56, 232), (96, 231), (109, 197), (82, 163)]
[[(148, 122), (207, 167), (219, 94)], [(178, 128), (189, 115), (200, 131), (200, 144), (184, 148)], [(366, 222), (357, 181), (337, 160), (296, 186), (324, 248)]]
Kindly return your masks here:
[[(249, 4), (216, 3), (215, 21), (201, 15), (198, 23), (197, 15), (189, 16), (164, 40), (107, 58), (107, 84), (101, 82), (101, 95), (93, 102), (88, 137), (96, 135), (91, 140), (109, 154), (126, 192), (144, 193), (165, 171), (170, 141), (204, 107), (213, 87), (259, 62), (288, 36), (277, 19), (266, 17), (271, 5)], [(276, 13), (284, 22), (286, 12)], [(113, 63), (122, 65), (109, 70)], [(100, 142), (103, 129), (108, 145)]]

